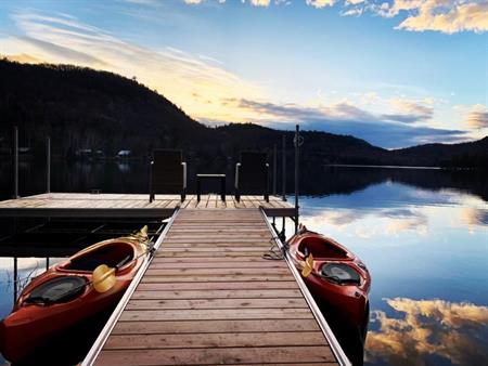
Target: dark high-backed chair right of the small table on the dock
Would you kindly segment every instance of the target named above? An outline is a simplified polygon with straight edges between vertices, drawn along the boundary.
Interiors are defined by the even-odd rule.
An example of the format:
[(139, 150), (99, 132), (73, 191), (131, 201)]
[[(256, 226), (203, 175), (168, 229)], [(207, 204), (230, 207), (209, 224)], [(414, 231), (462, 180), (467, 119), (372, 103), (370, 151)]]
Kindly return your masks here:
[(262, 194), (269, 202), (269, 165), (266, 153), (241, 152), (241, 160), (235, 165), (235, 199), (241, 194)]

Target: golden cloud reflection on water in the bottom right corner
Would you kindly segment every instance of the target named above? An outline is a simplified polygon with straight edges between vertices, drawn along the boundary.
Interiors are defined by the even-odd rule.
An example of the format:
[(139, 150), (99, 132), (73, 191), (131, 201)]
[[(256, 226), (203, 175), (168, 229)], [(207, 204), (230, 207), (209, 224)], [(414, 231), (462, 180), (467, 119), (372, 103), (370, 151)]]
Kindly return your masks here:
[(367, 362), (423, 366), (436, 356), (454, 365), (486, 363), (488, 352), (483, 339), (488, 330), (487, 306), (406, 298), (386, 302), (395, 314), (403, 316), (372, 313), (372, 323), (377, 323), (380, 330), (368, 334)]

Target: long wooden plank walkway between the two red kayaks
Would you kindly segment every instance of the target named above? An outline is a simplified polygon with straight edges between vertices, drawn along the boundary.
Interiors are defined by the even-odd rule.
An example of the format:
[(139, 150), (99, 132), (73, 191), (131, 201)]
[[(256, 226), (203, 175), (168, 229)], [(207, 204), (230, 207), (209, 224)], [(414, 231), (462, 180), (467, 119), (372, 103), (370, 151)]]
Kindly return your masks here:
[(290, 256), (264, 258), (283, 244), (247, 204), (177, 208), (81, 365), (350, 365)]

